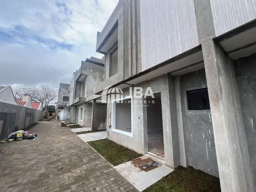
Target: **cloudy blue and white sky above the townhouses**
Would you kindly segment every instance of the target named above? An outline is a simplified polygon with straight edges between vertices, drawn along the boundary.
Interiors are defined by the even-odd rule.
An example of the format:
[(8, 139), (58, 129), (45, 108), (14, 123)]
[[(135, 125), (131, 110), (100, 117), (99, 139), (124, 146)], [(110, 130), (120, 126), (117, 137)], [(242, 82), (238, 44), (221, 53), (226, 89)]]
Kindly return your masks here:
[(95, 52), (118, 0), (3, 0), (0, 6), (0, 86), (70, 83)]

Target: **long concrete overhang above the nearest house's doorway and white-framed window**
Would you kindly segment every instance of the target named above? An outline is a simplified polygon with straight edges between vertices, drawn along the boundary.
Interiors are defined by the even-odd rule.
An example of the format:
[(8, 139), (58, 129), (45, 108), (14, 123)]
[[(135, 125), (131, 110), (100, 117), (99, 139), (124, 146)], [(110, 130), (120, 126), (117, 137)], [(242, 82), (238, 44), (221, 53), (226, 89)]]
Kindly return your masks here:
[[(111, 87), (118, 86), (119, 88), (124, 89), (167, 73), (180, 75), (202, 68), (204, 68), (204, 59), (202, 47), (199, 45), (126, 80), (118, 82)], [(101, 93), (102, 91), (99, 91), (96, 94), (99, 95)]]

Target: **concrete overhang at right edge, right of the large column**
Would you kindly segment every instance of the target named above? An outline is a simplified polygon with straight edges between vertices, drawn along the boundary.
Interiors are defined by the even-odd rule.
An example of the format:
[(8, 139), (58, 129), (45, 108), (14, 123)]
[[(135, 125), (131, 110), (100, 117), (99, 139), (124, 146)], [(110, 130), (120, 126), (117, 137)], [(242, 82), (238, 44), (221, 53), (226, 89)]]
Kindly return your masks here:
[(232, 59), (256, 53), (256, 19), (214, 38), (214, 41), (219, 43)]

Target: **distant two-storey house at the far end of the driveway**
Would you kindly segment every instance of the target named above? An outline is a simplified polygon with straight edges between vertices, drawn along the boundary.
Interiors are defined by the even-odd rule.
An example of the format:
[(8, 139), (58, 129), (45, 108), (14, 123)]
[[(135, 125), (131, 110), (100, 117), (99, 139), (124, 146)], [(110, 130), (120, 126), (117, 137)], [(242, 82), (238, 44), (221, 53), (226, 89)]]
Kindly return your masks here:
[(69, 103), (69, 86), (70, 84), (60, 83), (56, 107), (56, 120), (69, 120), (70, 109), (67, 107)]

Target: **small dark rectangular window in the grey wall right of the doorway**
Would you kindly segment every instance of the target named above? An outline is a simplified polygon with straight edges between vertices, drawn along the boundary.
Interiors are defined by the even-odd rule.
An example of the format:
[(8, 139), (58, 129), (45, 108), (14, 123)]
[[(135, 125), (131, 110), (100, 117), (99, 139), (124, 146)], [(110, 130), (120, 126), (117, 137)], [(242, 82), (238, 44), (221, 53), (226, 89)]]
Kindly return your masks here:
[(188, 110), (209, 110), (210, 101), (208, 89), (198, 89), (187, 91)]

